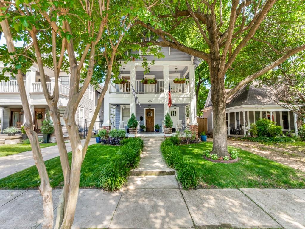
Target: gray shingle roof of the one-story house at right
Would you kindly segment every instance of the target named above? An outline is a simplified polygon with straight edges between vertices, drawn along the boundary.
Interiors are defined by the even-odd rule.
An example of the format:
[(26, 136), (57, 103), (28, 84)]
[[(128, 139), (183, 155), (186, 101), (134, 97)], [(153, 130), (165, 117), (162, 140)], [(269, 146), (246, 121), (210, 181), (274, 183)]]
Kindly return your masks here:
[[(256, 83), (243, 85), (236, 93), (228, 98), (226, 108), (242, 105), (278, 105), (272, 98), (270, 98), (270, 95), (273, 94), (270, 88), (256, 87), (256, 85)], [(226, 89), (226, 92), (230, 90), (231, 89)], [(209, 95), (211, 94), (210, 92), (211, 89), (209, 91)], [(211, 107), (213, 105), (211, 96), (209, 95), (204, 108)]]

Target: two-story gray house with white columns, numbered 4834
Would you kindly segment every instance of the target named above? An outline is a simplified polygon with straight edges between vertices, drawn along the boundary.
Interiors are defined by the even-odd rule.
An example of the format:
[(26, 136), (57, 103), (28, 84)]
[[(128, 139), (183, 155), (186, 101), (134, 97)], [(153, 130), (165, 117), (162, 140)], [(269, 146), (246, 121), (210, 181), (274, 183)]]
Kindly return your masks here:
[[(109, 83), (104, 97), (104, 129), (122, 129), (124, 122), (127, 128), (127, 120), (134, 113), (140, 125), (145, 125), (146, 132), (155, 132), (154, 126), (160, 125), (163, 131), (162, 121), (164, 115), (169, 113), (173, 120), (173, 127), (182, 123), (182, 131), (190, 129), (198, 133), (196, 121), (196, 98), (195, 98), (195, 67), (200, 63), (197, 58), (186, 53), (162, 48), (160, 52), (164, 58), (156, 58), (153, 55), (145, 56), (150, 71), (144, 74), (142, 60), (135, 60), (124, 64), (120, 69), (120, 84)], [(151, 61), (155, 60), (151, 65)], [(175, 78), (186, 78), (183, 83), (176, 83)], [(153, 84), (147, 84), (155, 79)], [(135, 98), (131, 93), (132, 87), (138, 96), (140, 104), (135, 104)], [(172, 105), (169, 107), (169, 88), (171, 91)], [(181, 125), (179, 125), (180, 127)], [(181, 132), (181, 129), (179, 130)]]

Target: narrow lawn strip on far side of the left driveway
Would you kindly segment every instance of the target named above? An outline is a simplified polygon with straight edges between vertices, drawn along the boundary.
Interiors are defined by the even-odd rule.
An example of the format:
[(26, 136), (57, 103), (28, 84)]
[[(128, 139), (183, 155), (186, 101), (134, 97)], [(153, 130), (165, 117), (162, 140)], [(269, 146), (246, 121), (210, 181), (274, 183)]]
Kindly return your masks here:
[[(40, 148), (54, 146), (57, 143), (41, 143)], [(1, 145), (0, 146), (0, 158), (12, 154), (19, 154), (22, 152), (30, 151), (32, 147), (30, 144), (14, 144), (14, 145)]]

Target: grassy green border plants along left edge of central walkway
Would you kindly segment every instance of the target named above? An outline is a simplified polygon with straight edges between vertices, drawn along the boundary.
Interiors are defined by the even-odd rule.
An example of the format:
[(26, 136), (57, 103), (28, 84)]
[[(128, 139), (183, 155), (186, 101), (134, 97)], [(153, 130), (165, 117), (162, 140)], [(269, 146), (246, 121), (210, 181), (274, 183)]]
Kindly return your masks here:
[(130, 169), (139, 165), (140, 154), (144, 147), (141, 138), (124, 139), (120, 150), (102, 168), (98, 185), (107, 191), (119, 190), (129, 175)]

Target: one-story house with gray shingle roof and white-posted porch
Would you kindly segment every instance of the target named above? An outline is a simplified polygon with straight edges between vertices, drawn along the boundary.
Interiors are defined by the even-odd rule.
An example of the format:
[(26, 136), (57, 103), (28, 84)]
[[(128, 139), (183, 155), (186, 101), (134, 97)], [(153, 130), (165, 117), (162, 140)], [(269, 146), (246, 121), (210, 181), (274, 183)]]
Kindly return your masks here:
[[(230, 89), (226, 89), (230, 91)], [(230, 128), (236, 125), (241, 125), (240, 135), (246, 136), (251, 123), (255, 123), (259, 118), (267, 118), (282, 126), (283, 133), (295, 130), (296, 128), (296, 113), (285, 109), (278, 105), (273, 99), (268, 96), (272, 93), (268, 88), (259, 88), (255, 85), (244, 85), (239, 91), (230, 96), (226, 106), (226, 120), (228, 135), (231, 135)], [(209, 91), (204, 106), (203, 118), (207, 118), (208, 133), (213, 134), (213, 105), (211, 101), (211, 90)]]

